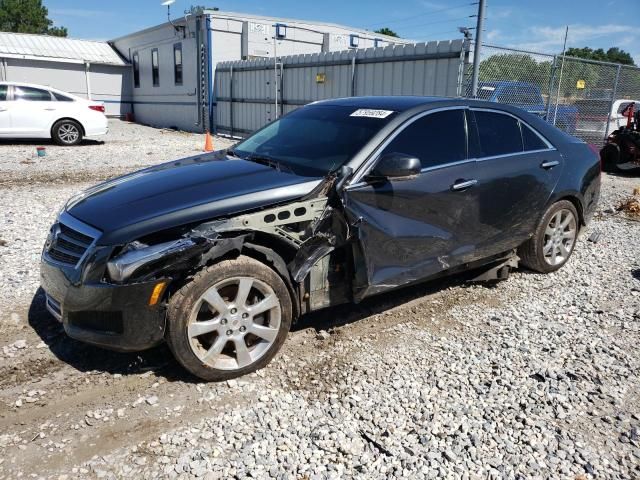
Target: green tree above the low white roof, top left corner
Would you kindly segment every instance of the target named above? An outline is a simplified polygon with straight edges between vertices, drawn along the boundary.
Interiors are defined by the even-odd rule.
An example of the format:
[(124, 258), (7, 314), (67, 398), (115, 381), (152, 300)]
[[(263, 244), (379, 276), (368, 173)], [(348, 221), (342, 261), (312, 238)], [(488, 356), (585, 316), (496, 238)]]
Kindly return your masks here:
[(66, 37), (65, 27), (54, 27), (42, 0), (0, 0), (0, 31)]

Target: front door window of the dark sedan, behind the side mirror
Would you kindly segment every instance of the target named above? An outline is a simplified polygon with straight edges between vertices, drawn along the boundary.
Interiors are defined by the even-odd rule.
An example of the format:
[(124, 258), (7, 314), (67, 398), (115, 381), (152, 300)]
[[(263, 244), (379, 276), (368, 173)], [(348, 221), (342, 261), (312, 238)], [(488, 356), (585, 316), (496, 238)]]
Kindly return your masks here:
[(392, 152), (419, 158), (422, 168), (466, 159), (464, 110), (445, 110), (419, 118), (400, 132), (383, 153)]

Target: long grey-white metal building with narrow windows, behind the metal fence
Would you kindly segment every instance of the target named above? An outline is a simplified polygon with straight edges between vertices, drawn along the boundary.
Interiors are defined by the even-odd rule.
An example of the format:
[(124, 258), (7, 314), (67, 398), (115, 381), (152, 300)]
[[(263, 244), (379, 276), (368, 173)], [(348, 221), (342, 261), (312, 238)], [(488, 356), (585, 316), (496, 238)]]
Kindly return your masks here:
[(136, 121), (214, 130), (219, 62), (412, 43), (331, 23), (192, 9), (110, 42), (133, 66)]

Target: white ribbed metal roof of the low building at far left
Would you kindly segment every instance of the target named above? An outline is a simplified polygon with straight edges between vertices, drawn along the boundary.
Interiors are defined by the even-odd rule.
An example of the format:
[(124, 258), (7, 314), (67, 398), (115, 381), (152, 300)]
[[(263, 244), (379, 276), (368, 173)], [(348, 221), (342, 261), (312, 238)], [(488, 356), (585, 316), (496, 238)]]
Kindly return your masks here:
[(107, 42), (0, 32), (0, 58), (127, 65)]

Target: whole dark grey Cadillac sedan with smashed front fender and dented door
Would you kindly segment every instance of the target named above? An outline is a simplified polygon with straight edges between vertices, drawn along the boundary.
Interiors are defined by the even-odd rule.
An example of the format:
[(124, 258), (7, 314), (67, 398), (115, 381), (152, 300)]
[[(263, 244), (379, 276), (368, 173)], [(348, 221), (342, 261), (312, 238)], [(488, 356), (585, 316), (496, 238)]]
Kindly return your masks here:
[(462, 270), (558, 270), (599, 190), (587, 145), (517, 108), (316, 102), (71, 198), (42, 286), (71, 337), (166, 340), (193, 374), (228, 379), (264, 367), (306, 312)]

